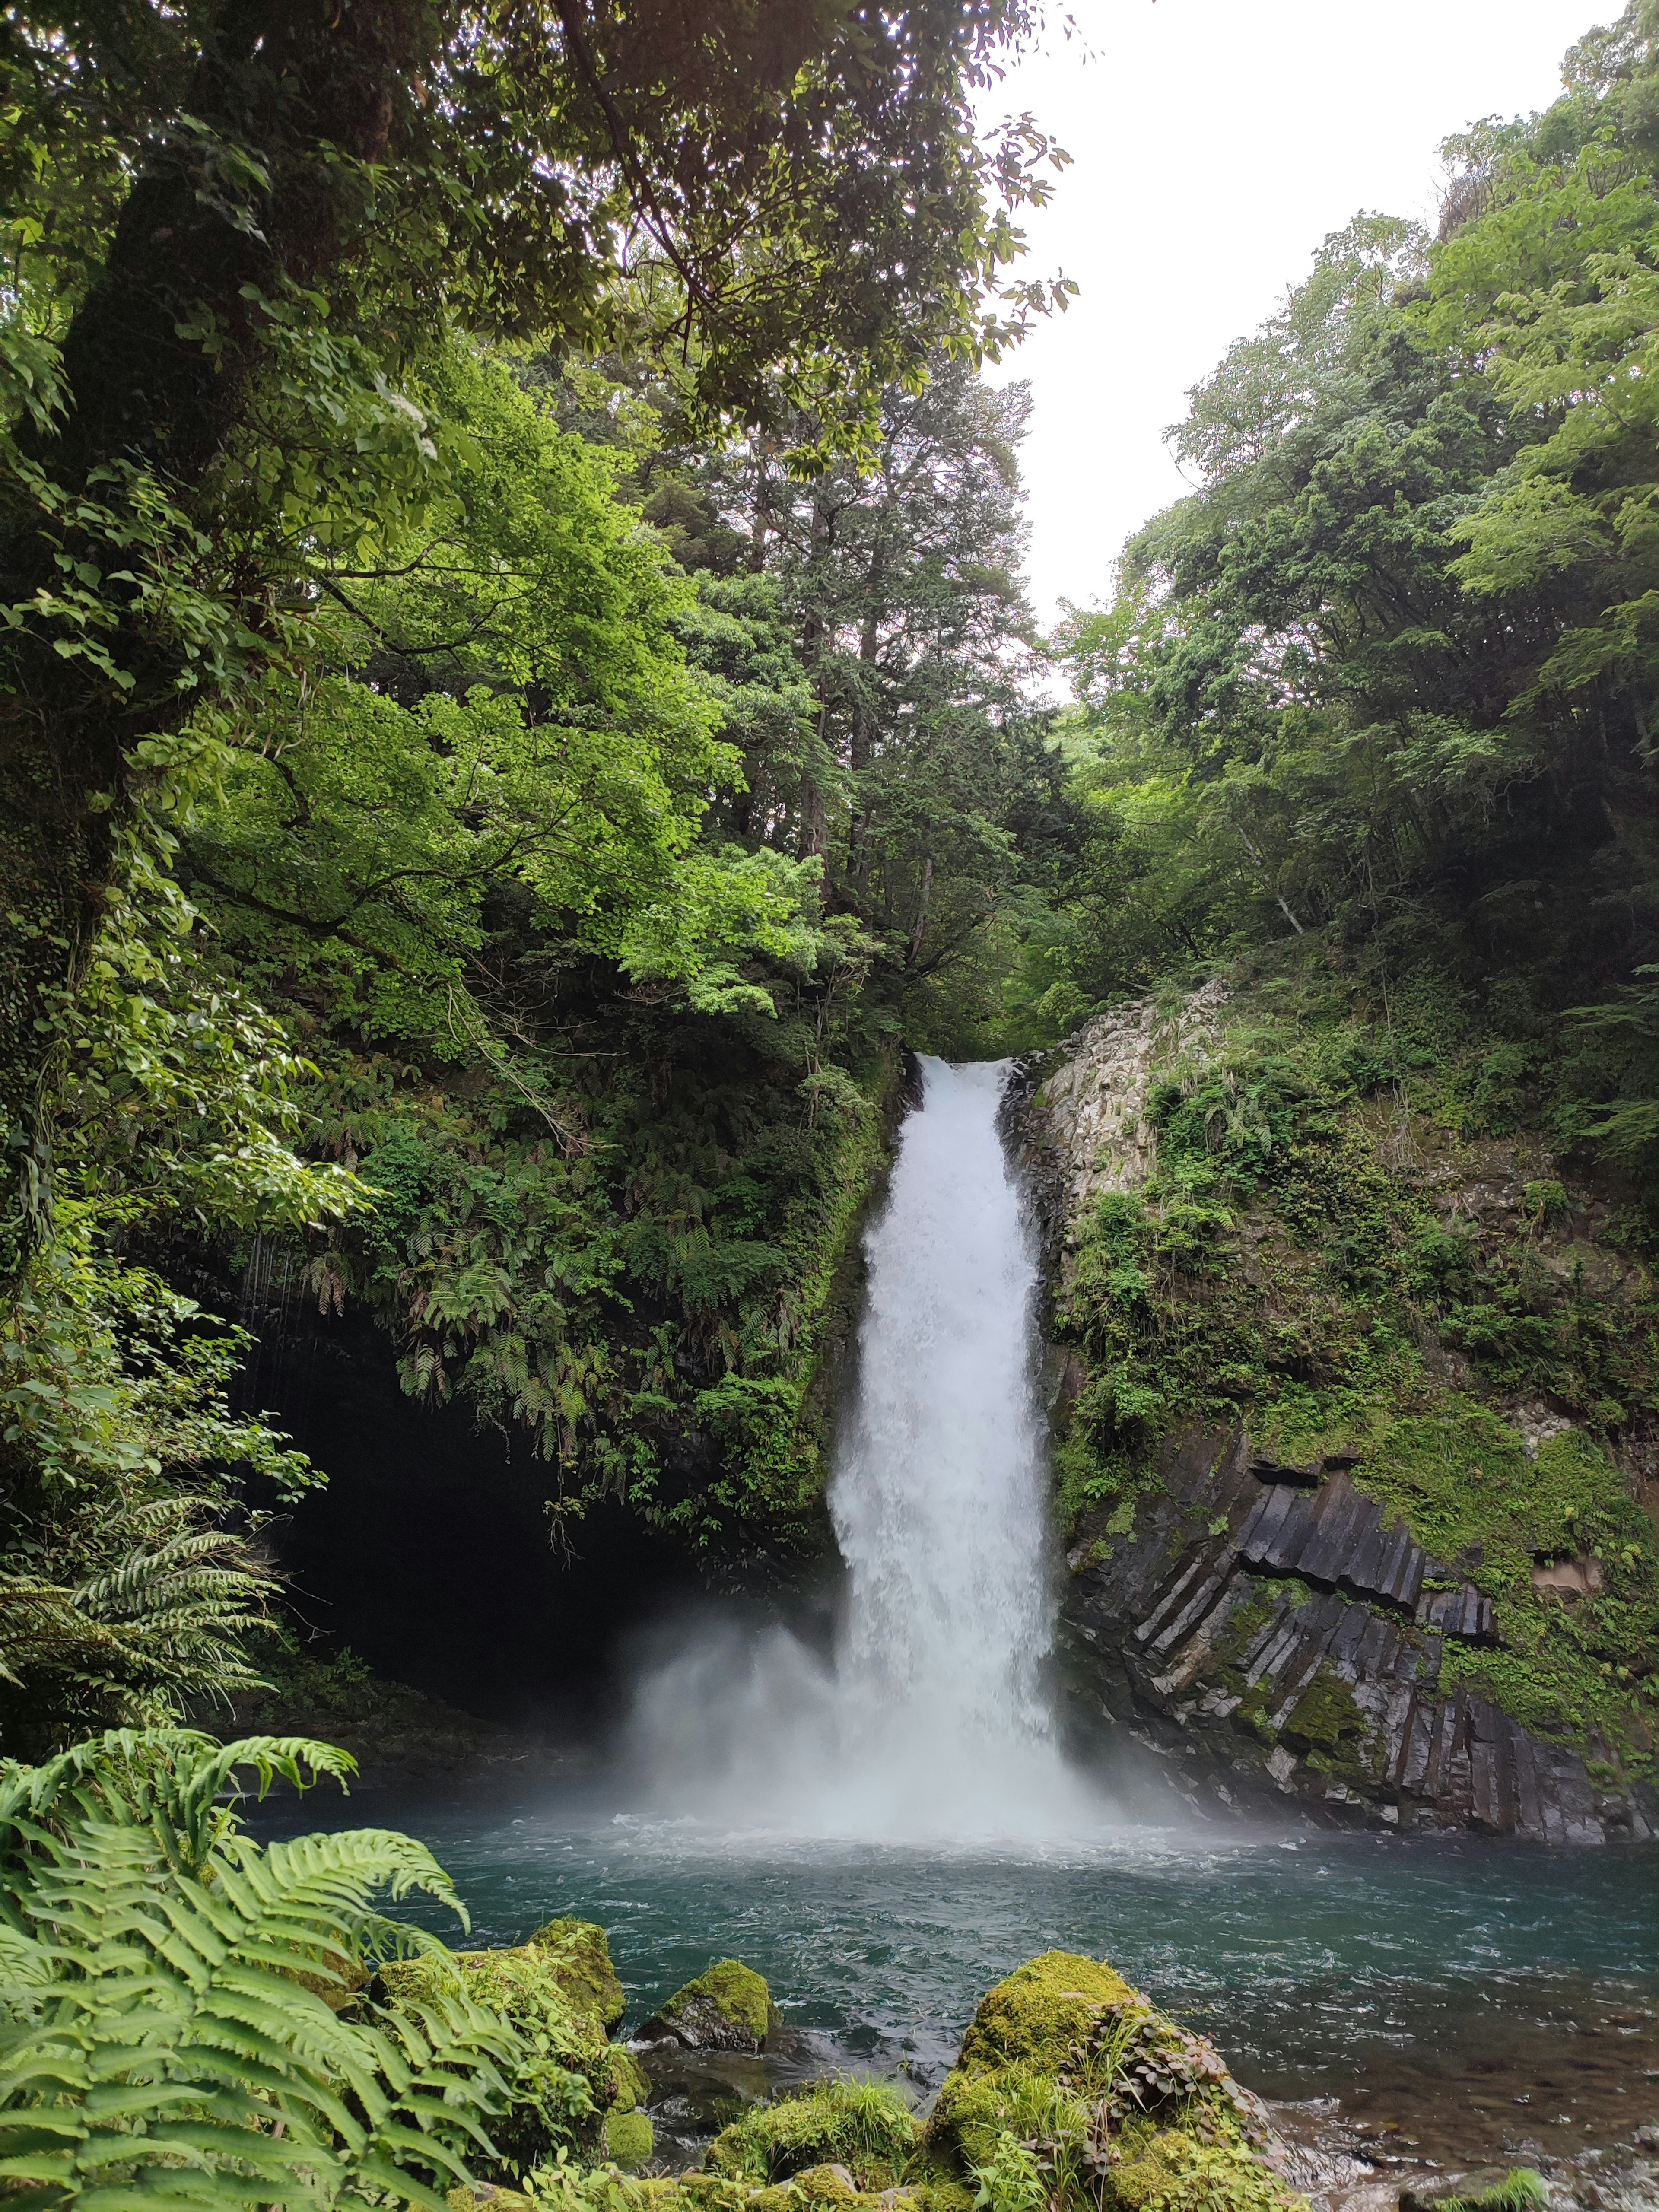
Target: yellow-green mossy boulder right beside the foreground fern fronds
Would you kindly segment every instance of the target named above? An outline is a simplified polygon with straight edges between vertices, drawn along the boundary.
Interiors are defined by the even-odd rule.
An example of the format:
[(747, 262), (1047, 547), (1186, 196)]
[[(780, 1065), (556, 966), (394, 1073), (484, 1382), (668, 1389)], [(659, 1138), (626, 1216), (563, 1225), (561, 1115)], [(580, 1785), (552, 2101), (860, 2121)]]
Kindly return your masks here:
[(462, 1991), (520, 2035), (509, 2110), (491, 2121), (500, 2152), (484, 2181), (511, 2183), (560, 2148), (597, 2157), (611, 2112), (633, 2112), (650, 2084), (622, 2044), (606, 2042), (593, 2011), (571, 2002), (560, 1962), (533, 1944), (442, 1951), (380, 1969), (369, 2000), (394, 2011)]

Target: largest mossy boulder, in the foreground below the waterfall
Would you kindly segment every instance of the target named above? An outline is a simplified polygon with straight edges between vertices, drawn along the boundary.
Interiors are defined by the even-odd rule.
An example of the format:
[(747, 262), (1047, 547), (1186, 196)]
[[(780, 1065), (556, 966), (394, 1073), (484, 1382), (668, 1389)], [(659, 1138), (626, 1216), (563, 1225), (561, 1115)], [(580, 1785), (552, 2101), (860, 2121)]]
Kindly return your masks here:
[[(984, 1995), (927, 2126), (929, 2179), (1051, 2174), (1104, 2212), (1292, 2212), (1259, 2097), (1108, 1964), (1044, 1951)], [(1031, 2168), (1031, 2177), (1026, 2177)], [(1303, 2208), (1305, 2212), (1305, 2208)]]

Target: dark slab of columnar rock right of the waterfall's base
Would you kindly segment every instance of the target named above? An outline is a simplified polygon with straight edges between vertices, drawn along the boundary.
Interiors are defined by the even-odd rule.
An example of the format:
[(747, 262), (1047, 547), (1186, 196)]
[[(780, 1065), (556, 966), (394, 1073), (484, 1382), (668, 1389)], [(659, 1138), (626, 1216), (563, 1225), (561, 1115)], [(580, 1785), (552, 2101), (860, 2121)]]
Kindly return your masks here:
[[(1491, 1606), (1345, 1469), (1252, 1460), (1186, 1433), (1121, 1535), (1084, 1524), (1062, 1608), (1071, 1719), (1172, 1756), (1210, 1807), (1285, 1798), (1316, 1818), (1473, 1827), (1540, 1843), (1652, 1840), (1659, 1792), (1597, 1787), (1584, 1754), (1442, 1688), (1447, 1644)], [(1590, 1756), (1595, 1750), (1590, 1747)]]

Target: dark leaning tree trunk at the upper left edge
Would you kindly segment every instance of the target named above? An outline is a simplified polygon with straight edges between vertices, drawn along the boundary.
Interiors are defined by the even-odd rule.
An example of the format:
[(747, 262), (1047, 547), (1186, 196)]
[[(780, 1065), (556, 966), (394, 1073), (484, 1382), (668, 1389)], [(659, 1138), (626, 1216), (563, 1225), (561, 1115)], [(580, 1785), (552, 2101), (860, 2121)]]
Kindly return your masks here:
[[(24, 460), (69, 502), (119, 511), (157, 482), (212, 540), (215, 467), (246, 418), (265, 345), (259, 294), (314, 283), (341, 252), (352, 161), (387, 153), (398, 82), (420, 60), (420, 0), (226, 0), (186, 104), (135, 181), (104, 272), (64, 341), (66, 411), (20, 436)], [(427, 33), (429, 35), (429, 33)], [(263, 186), (237, 195), (226, 148)], [(336, 161), (323, 148), (347, 155)], [(0, 513), (0, 606), (62, 591), (62, 555), (119, 619), (104, 633), (119, 681), (55, 644), (51, 615), (9, 635), (0, 699), (0, 1272), (51, 1223), (49, 1029), (73, 989), (111, 891), (133, 805), (139, 739), (201, 699), (181, 644), (139, 622), (104, 582), (126, 568), (119, 533), (82, 518), (53, 529), (22, 500)], [(184, 546), (179, 549), (186, 551)], [(208, 564), (212, 562), (212, 549)], [(259, 577), (239, 580), (246, 602)]]

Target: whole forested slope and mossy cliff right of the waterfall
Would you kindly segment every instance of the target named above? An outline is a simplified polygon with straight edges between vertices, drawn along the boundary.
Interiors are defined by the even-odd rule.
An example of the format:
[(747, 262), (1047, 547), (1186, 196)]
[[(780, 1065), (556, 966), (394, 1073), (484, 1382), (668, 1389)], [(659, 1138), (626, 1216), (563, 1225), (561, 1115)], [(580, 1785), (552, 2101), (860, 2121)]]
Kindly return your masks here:
[[(1544, 1834), (1493, 1708), (1590, 1754), (1555, 1832), (1655, 1778), (1655, 27), (1455, 142), (1436, 239), (1325, 241), (1194, 389), (1201, 489), (1064, 635), (1095, 827), (1026, 975), (1051, 1020), (1161, 989), (1037, 1064), (1062, 1511), (1115, 1590), (1077, 1617), (1250, 1774), (1389, 1818), (1531, 1790)], [(1228, 1438), (1256, 1478), (1192, 1489)], [(1347, 1548), (1298, 1579), (1263, 1484)], [(1378, 1582), (1347, 1484), (1427, 1584)], [(1181, 1562), (1208, 1619), (1159, 1610)]]

